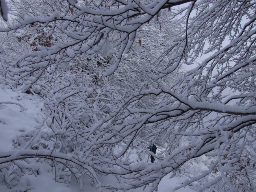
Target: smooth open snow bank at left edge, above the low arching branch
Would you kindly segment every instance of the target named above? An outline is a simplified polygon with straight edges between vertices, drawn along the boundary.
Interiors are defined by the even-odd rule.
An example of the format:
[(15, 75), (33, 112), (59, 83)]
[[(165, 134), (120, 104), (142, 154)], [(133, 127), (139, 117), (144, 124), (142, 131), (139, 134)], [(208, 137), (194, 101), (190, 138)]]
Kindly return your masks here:
[[(24, 96), (26, 96), (24, 98)], [(0, 153), (13, 150), (14, 135), (33, 130), (42, 121), (43, 102), (35, 96), (0, 87)], [(19, 105), (17, 105), (19, 104)]]

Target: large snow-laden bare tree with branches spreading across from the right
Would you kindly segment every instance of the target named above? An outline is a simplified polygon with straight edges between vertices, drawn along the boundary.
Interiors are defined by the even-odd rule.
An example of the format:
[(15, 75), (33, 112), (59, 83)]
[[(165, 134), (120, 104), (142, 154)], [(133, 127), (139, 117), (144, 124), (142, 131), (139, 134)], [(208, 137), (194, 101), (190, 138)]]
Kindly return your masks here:
[[(174, 176), (191, 159), (208, 155), (213, 157), (208, 170), (175, 189), (196, 183), (198, 191), (213, 187), (254, 190), (255, 0), (62, 0), (61, 4), (65, 9), (49, 9), (45, 17), (26, 17), (0, 29), (26, 32), (35, 25), (40, 26), (37, 30), (41, 33), (47, 31), (45, 39), (58, 37), (51, 46), (36, 44), (36, 50), (9, 63), (7, 76), (22, 81), (22, 92), (36, 86), (49, 90), (46, 94), (51, 94), (48, 98), (52, 100), (46, 102), (46, 108), (52, 113), (42, 125), (51, 131), (44, 133), (38, 128), (30, 140), (24, 135), (24, 146), (16, 141), (17, 150), (2, 154), (1, 164), (44, 158), (56, 164), (60, 173), (68, 172), (68, 168), (78, 178), (89, 174), (99, 188), (128, 190), (151, 183), (153, 191), (165, 175), (172, 172)], [(122, 59), (137, 47), (135, 39), (143, 44), (139, 30), (150, 21), (161, 23), (165, 10), (171, 14), (170, 20), (178, 19), (184, 28), (179, 28), (179, 37), (145, 70), (155, 84), (148, 87), (148, 82), (141, 82), (134, 93), (113, 89), (104, 79), (115, 76)], [(169, 30), (166, 26), (163, 29)], [(101, 71), (104, 83), (98, 85), (91, 76), (86, 79), (72, 72), (61, 76), (67, 63), (104, 55), (108, 44), (118, 53), (111, 54), (114, 62), (102, 56), (108, 64), (102, 68), (108, 68), (106, 72)], [(148, 61), (142, 63), (146, 66)], [(193, 69), (177, 76), (187, 65)], [(172, 78), (176, 80), (168, 81)], [(49, 86), (52, 80), (56, 83)], [(69, 89), (64, 89), (66, 86)], [(146, 100), (152, 104), (145, 105)], [(138, 137), (166, 144), (161, 154), (150, 153), (156, 164), (126, 158)], [(101, 183), (98, 175), (107, 174), (115, 175), (119, 184)]]

